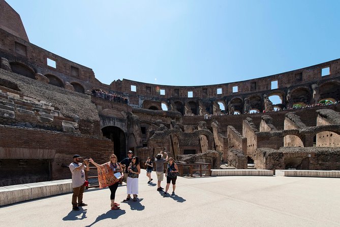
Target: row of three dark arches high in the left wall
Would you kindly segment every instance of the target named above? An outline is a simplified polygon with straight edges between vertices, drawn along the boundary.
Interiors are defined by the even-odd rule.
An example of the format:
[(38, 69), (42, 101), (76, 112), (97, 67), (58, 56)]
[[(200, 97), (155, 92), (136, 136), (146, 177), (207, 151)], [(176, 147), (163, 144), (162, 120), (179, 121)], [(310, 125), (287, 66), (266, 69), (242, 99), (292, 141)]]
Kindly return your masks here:
[[(36, 79), (36, 72), (33, 68), (25, 64), (19, 63), (19, 62), (10, 62), (10, 66), (11, 66), (12, 72), (23, 75), (31, 79)], [(65, 88), (65, 83), (63, 82), (63, 80), (59, 79), (57, 76), (53, 74), (45, 74), (44, 76), (49, 79), (49, 82), (48, 82), (49, 84), (59, 87), (59, 88)], [(80, 83), (71, 82), (70, 84), (73, 86), (74, 91), (79, 92), (79, 93), (85, 93), (85, 89)]]

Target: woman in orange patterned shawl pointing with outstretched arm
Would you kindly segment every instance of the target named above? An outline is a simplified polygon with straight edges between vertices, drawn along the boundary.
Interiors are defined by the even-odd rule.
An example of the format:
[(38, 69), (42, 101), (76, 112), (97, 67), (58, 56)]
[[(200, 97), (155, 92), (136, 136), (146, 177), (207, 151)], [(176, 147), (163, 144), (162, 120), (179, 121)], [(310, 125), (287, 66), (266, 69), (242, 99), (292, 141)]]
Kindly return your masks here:
[(111, 210), (118, 210), (119, 204), (114, 202), (116, 195), (116, 190), (118, 188), (119, 179), (124, 177), (123, 169), (117, 162), (117, 156), (112, 154), (110, 156), (110, 161), (100, 165), (97, 164), (92, 158), (89, 161), (97, 166), (98, 171), (98, 182), (100, 188), (109, 187), (111, 194)]

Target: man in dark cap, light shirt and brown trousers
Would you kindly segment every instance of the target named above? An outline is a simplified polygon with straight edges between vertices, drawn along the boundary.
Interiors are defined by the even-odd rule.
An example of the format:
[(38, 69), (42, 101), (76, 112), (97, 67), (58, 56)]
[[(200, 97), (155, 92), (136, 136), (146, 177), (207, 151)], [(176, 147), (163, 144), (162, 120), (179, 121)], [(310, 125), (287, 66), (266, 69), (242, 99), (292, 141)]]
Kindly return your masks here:
[[(72, 210), (78, 211), (79, 207), (87, 206), (83, 203), (83, 193), (85, 189), (85, 170), (89, 171), (89, 163), (87, 159), (81, 163), (82, 157), (80, 155), (73, 156), (73, 162), (69, 165), (72, 173)], [(78, 202), (77, 202), (78, 200)]]

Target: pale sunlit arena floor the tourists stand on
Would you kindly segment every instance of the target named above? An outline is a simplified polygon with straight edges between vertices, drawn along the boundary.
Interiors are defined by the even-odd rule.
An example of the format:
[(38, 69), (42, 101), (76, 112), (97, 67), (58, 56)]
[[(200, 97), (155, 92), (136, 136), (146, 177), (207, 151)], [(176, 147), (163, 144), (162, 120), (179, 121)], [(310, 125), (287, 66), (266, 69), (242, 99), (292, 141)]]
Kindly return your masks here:
[[(152, 172), (153, 179), (156, 174)], [(109, 189), (89, 189), (71, 211), (72, 194), (0, 207), (1, 226), (340, 226), (340, 179), (206, 177), (177, 179), (163, 197), (139, 178), (139, 202), (110, 210)], [(165, 188), (165, 183), (162, 183)], [(171, 186), (170, 186), (171, 187)], [(171, 192), (171, 190), (170, 190)], [(116, 201), (126, 197), (117, 189)]]

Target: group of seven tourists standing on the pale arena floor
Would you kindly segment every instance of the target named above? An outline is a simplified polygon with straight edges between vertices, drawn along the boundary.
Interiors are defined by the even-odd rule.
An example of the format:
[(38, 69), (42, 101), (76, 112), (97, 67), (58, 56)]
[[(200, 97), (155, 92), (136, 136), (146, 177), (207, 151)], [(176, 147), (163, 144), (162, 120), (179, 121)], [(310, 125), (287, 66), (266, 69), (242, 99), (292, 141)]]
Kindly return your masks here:
[[(163, 158), (163, 155), (166, 155), (166, 157)], [(127, 197), (122, 202), (128, 202), (131, 199), (134, 202), (138, 200), (138, 177), (141, 173), (141, 167), (139, 158), (134, 156), (132, 151), (128, 151), (128, 157), (121, 160), (121, 162), (117, 161), (117, 156), (115, 154), (112, 154), (110, 156), (110, 161), (104, 164), (98, 164), (92, 158), (84, 159), (81, 163), (81, 159), (82, 157), (80, 155), (74, 155), (73, 162), (69, 165), (72, 173), (73, 187), (72, 210), (78, 211), (80, 210), (79, 207), (87, 206), (87, 204), (83, 203), (82, 198), (85, 186), (88, 185), (88, 182), (85, 180), (85, 170), (89, 171), (89, 163), (92, 163), (97, 167), (99, 187), (109, 187), (110, 189), (111, 210), (118, 210), (120, 208), (120, 205), (115, 202), (115, 193), (119, 183), (121, 183), (123, 179), (125, 179), (127, 183)], [(164, 188), (161, 187), (161, 182), (164, 178), (164, 162), (167, 162), (168, 160), (169, 163), (167, 164), (165, 172), (167, 184), (163, 196), (169, 196), (168, 190), (170, 183), (172, 183), (172, 195), (175, 195), (178, 166), (172, 157), (168, 157), (166, 152), (158, 154), (154, 159), (158, 181), (157, 191), (164, 190)], [(150, 157), (148, 157), (145, 162), (145, 168), (146, 176), (149, 179), (147, 183), (149, 184), (153, 180), (151, 178), (153, 163)]]

